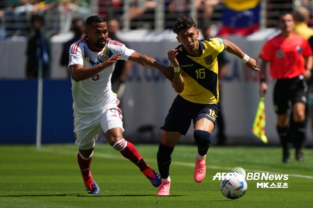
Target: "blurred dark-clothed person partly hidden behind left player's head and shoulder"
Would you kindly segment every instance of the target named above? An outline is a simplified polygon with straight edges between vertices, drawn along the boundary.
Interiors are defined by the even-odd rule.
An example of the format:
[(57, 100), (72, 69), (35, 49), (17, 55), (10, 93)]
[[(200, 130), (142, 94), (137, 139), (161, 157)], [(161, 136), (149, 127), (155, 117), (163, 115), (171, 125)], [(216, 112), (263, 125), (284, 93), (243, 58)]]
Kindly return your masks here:
[(70, 73), (67, 67), (68, 62), (69, 62), (69, 52), (68, 52), (69, 48), (72, 43), (77, 42), (84, 38), (85, 30), (86, 30), (85, 21), (83, 21), (82, 19), (74, 19), (71, 25), (71, 31), (73, 31), (74, 37), (71, 40), (63, 43), (63, 50), (62, 50), (62, 55), (60, 59), (60, 64), (62, 66), (66, 66), (67, 72), (68, 72), (68, 78), (70, 78)]

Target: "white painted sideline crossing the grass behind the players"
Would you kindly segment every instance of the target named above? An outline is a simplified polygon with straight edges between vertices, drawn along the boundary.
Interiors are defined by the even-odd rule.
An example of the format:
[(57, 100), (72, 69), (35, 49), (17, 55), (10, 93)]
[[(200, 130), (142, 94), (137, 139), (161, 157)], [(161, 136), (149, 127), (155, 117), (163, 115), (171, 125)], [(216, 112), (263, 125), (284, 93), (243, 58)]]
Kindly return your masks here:
[[(60, 149), (52, 149), (52, 148), (45, 148), (45, 147), (42, 147), (40, 149), (40, 151), (42, 151), (42, 152), (53, 152), (53, 153), (66, 154), (66, 155), (77, 154), (77, 151), (70, 151), (70, 150), (64, 151), (64, 150), (60, 150)], [(96, 153), (96, 152), (94, 152), (93, 156), (97, 156), (97, 157), (100, 157), (100, 158), (116, 159), (116, 160), (127, 160), (126, 158), (124, 158), (121, 155), (110, 155), (110, 154), (105, 154), (105, 153)], [(145, 158), (144, 160), (149, 162), (149, 163), (156, 162), (156, 159), (147, 159), (147, 158)], [(172, 165), (177, 165), (177, 166), (188, 166), (188, 167), (194, 167), (195, 166), (194, 163), (175, 162), (175, 161), (172, 161), (171, 164)], [(228, 170), (228, 171), (230, 171), (232, 168), (233, 167), (206, 166), (206, 169), (223, 169), (223, 170)], [(246, 172), (261, 172), (261, 173), (262, 172), (268, 172), (268, 171), (265, 171), (265, 170), (255, 170), (255, 169), (245, 169), (245, 170), (246, 170)], [(268, 172), (268, 173), (271, 173), (271, 174), (286, 174), (286, 173), (278, 173), (278, 172)], [(288, 176), (292, 176), (292, 177), (295, 177), (295, 178), (313, 179), (313, 176), (310, 176), (310, 175), (300, 175), (300, 174), (289, 173)]]

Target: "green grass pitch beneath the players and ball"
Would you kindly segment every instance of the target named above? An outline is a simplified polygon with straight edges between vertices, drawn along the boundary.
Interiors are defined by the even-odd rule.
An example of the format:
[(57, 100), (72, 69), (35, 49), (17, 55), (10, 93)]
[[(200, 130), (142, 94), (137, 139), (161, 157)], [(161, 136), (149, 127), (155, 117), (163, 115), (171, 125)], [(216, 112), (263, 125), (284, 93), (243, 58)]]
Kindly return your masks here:
[[(157, 170), (157, 145), (135, 145)], [(107, 144), (97, 144), (91, 172), (101, 193), (88, 194), (72, 144), (0, 146), (0, 207), (7, 208), (312, 208), (313, 149), (304, 149), (305, 161), (281, 163), (281, 148), (273, 146), (211, 146), (207, 173), (193, 179), (196, 146), (178, 145), (172, 154), (170, 196), (156, 196), (139, 169)], [(224, 197), (217, 172), (240, 166), (246, 172), (288, 174), (288, 188), (257, 188), (248, 180), (246, 194), (237, 200)], [(281, 181), (274, 181), (281, 182)]]

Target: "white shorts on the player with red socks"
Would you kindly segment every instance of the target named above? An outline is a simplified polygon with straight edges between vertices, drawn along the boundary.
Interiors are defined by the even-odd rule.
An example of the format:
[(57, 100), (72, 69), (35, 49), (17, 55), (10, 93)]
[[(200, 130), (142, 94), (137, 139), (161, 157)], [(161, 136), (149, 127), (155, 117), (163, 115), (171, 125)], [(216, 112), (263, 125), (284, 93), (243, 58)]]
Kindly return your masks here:
[(80, 149), (91, 149), (98, 139), (99, 127), (104, 133), (112, 128), (123, 128), (122, 110), (115, 104), (115, 107), (91, 114), (77, 115), (74, 117), (75, 144)]

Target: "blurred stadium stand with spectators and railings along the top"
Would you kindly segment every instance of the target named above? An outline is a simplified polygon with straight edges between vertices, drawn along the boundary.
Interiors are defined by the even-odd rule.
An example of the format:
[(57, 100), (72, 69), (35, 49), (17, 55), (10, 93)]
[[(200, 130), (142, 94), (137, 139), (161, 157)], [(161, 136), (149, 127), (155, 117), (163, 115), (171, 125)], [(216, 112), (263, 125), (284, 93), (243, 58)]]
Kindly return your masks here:
[[(238, 1), (238, 0), (234, 0)], [(23, 3), (21, 3), (23, 2)], [(33, 13), (45, 16), (49, 35), (69, 31), (72, 18), (86, 18), (99, 14), (107, 19), (119, 19), (122, 30), (171, 29), (182, 15), (198, 21), (220, 25), (224, 9), (223, 0), (1, 0), (0, 38), (28, 36), (29, 17)], [(312, 0), (261, 0), (260, 28), (276, 27), (281, 11), (292, 11), (304, 5), (313, 9)], [(312, 18), (309, 26), (313, 26)]]

